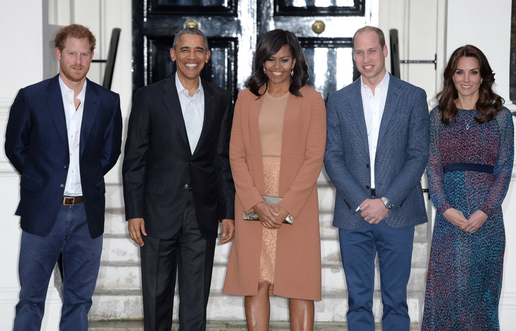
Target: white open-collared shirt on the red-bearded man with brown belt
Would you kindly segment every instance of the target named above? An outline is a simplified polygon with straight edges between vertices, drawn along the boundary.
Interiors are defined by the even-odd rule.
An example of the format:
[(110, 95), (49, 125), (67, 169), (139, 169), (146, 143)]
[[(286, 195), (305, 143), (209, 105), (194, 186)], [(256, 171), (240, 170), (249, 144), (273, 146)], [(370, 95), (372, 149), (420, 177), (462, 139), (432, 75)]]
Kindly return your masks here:
[(84, 97), (86, 95), (86, 84), (84, 82), (83, 90), (77, 95), (80, 101), (79, 106), (75, 109), (74, 92), (61, 80), (59, 76), (59, 86), (61, 87), (61, 95), (63, 98), (63, 106), (65, 107), (66, 129), (68, 134), (68, 149), (70, 151), (70, 164), (68, 165), (68, 175), (66, 178), (65, 194), (67, 196), (83, 195), (83, 188), (80, 186), (80, 125), (83, 122)]

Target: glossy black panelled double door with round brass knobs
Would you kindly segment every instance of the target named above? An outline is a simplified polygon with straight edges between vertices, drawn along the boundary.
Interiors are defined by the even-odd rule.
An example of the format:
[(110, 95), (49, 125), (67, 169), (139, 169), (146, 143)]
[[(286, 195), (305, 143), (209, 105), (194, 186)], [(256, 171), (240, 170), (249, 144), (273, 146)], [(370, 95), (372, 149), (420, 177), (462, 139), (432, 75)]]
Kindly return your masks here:
[(326, 99), (358, 77), (351, 38), (377, 21), (375, 0), (133, 0), (133, 93), (175, 72), (174, 34), (193, 26), (206, 34), (212, 52), (201, 77), (235, 100), (251, 74), (256, 41), (281, 28), (299, 38), (308, 84)]

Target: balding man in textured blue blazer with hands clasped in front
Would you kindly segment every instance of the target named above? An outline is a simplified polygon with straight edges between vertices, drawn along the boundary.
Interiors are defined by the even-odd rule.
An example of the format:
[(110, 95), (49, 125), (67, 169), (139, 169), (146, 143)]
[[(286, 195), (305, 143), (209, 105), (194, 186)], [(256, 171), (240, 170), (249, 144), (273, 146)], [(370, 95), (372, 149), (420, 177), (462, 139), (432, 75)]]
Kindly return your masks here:
[(359, 29), (353, 57), (361, 77), (327, 104), (325, 168), (336, 188), (333, 226), (339, 228), (352, 331), (375, 329), (376, 254), (383, 329), (409, 330), (414, 226), (427, 222), (420, 183), (428, 159), (426, 93), (390, 75), (387, 54), (380, 29)]

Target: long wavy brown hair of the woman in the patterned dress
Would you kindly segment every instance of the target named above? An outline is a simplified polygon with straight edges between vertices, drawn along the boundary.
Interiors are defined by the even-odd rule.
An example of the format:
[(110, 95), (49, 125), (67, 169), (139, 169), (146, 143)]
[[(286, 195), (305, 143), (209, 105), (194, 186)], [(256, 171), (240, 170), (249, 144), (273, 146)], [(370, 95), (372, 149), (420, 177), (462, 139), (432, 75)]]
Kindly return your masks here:
[(448, 60), (448, 65), (444, 69), (444, 87), (437, 93), (437, 101), (439, 102), (439, 111), (441, 112), (441, 120), (448, 125), (451, 120), (457, 116), (457, 106), (455, 100), (459, 97), (453, 75), (457, 70), (457, 65), (461, 57), (473, 57), (478, 60), (478, 69), (482, 84), (478, 89), (479, 96), (475, 108), (482, 114), (475, 117), (478, 123), (492, 121), (496, 117), (496, 113), (502, 109), (505, 100), (493, 91), (494, 73), (489, 66), (486, 55), (473, 45), (465, 45), (456, 49)]

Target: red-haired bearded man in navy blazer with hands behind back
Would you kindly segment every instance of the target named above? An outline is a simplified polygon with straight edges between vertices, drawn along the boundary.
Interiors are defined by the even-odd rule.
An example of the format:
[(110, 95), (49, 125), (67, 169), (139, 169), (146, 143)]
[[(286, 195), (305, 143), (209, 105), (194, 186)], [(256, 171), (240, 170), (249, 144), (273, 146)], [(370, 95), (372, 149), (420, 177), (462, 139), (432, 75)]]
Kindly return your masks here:
[(104, 232), (104, 175), (122, 145), (117, 93), (86, 78), (95, 48), (78, 24), (54, 39), (59, 74), (22, 88), (9, 114), (5, 152), (20, 172), (20, 301), (14, 330), (39, 330), (46, 291), (63, 257), (62, 330), (88, 329)]

